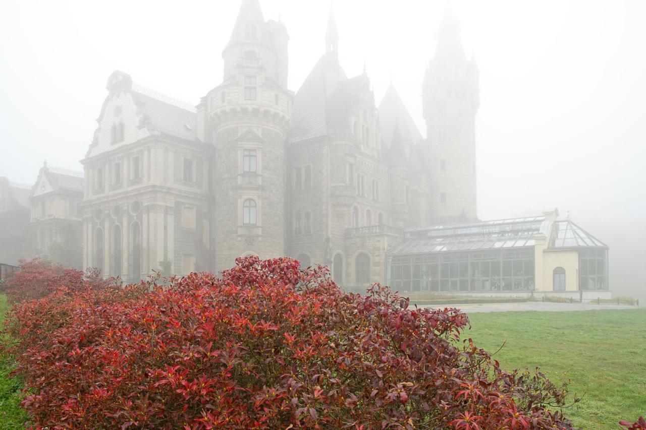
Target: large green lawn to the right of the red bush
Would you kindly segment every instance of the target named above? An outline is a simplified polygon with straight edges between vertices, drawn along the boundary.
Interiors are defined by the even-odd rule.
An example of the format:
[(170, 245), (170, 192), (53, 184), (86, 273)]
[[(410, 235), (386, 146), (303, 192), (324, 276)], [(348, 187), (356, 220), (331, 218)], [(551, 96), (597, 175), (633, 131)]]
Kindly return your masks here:
[(583, 429), (618, 429), (646, 415), (646, 309), (470, 314), (466, 336), (506, 370), (536, 366), (572, 380), (583, 400), (564, 412)]

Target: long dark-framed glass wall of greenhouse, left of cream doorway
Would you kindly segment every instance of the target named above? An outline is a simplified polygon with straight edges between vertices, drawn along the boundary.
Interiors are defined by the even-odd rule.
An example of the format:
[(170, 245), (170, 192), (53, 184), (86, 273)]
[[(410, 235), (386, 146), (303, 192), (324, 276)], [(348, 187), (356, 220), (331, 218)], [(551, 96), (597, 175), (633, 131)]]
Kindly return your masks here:
[(389, 256), (386, 283), (397, 291), (532, 291), (534, 248)]

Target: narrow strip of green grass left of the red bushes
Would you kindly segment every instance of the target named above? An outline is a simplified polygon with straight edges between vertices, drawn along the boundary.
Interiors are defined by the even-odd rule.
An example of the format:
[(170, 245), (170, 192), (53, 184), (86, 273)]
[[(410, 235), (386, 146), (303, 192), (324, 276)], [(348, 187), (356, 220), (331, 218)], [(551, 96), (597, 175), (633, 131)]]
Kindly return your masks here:
[[(5, 294), (0, 294), (0, 324), (8, 309)], [(6, 430), (24, 429), (27, 420), (25, 411), (18, 405), (23, 384), (19, 378), (10, 376), (15, 368), (12, 358), (0, 356), (0, 428)]]

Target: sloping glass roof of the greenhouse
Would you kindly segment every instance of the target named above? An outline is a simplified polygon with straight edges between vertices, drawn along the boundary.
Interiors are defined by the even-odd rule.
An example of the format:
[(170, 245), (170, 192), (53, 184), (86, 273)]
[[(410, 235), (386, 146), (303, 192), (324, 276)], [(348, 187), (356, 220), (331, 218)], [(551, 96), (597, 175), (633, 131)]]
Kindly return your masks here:
[[(545, 216), (437, 225), (404, 232), (404, 240), (388, 254), (428, 254), (433, 252), (486, 251), (533, 247), (534, 234), (551, 236), (550, 248), (605, 247), (570, 220), (551, 223)], [(551, 233), (551, 234), (550, 234)]]

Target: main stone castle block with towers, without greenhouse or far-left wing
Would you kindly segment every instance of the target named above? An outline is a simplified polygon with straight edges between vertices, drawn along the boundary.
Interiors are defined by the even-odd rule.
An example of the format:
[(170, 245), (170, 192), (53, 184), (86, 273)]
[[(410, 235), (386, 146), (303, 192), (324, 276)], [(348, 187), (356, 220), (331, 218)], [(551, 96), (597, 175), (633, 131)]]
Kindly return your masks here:
[[(403, 229), (477, 215), (477, 69), (456, 60), (464, 54), (457, 30), (445, 30), (451, 19), (424, 81), (429, 139), (395, 88), (377, 107), (367, 72), (346, 76), (333, 15), (296, 93), (287, 88), (287, 30), (264, 19), (258, 0), (242, 1), (222, 83), (196, 108), (114, 72), (83, 160), (84, 267), (138, 279), (289, 255), (328, 265), (349, 289), (384, 281), (386, 251)], [(459, 79), (442, 74), (455, 65)], [(471, 102), (438, 101), (449, 81)], [(433, 136), (449, 124), (455, 134), (441, 146)], [(450, 177), (439, 176), (440, 159)]]

